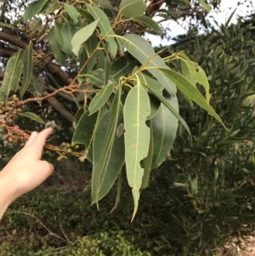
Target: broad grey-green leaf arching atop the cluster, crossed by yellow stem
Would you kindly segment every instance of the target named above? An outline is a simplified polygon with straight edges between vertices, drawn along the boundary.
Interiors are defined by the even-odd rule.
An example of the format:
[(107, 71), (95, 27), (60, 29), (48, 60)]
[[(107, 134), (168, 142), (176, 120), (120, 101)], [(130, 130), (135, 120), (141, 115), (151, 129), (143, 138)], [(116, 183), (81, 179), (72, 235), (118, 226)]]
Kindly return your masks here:
[(143, 37), (130, 34), (121, 37), (122, 43), (127, 48), (127, 51), (133, 55), (134, 58), (144, 65), (146, 69), (161, 82), (170, 94), (176, 94), (176, 86), (173, 81), (166, 77), (158, 68), (167, 68), (165, 62), (157, 55), (151, 44)]

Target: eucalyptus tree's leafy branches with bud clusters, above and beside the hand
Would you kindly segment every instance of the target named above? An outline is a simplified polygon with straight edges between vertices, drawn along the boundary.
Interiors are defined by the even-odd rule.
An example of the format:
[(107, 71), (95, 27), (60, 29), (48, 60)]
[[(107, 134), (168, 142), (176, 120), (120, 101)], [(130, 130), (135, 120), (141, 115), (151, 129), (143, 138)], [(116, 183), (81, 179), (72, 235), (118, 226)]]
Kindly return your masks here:
[[(205, 12), (210, 9), (204, 1), (198, 2)], [(179, 4), (189, 8), (188, 1)], [(73, 155), (93, 163), (93, 204), (99, 204), (116, 180), (118, 204), (125, 167), (133, 194), (132, 219), (150, 170), (165, 161), (173, 145), (178, 122), (190, 133), (178, 114), (177, 88), (224, 125), (210, 105), (209, 83), (201, 67), (183, 53), (161, 59), (140, 36), (144, 31), (161, 33), (150, 18), (150, 7), (143, 0), (115, 5), (38, 0), (27, 4), (21, 20), (2, 23), (6, 30), (0, 31), (3, 48), (11, 47), (4, 53), (8, 62), (0, 87), (3, 143), (29, 138), (24, 128), (15, 125), (17, 116), (44, 125), (36, 110), (26, 111), (24, 106), (48, 100), (70, 122), (73, 135), (68, 138), (71, 143), (64, 140), (60, 146), (45, 147), (56, 151), (58, 160)], [(182, 73), (165, 64), (177, 59)], [(57, 97), (65, 105), (71, 102), (71, 111)]]

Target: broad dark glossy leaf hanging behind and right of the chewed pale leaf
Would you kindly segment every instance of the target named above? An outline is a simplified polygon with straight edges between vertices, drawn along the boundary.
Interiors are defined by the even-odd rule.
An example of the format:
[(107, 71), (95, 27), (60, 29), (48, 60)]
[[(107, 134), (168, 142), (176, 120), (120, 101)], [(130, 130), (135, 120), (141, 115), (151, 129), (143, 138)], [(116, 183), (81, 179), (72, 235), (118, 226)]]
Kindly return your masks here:
[[(178, 112), (177, 97), (169, 94), (165, 98), (169, 105), (172, 105), (173, 109)], [(157, 168), (166, 160), (167, 154), (172, 148), (177, 133), (178, 118), (165, 105), (161, 104), (156, 116), (150, 120), (150, 128), (153, 145), (151, 168)]]

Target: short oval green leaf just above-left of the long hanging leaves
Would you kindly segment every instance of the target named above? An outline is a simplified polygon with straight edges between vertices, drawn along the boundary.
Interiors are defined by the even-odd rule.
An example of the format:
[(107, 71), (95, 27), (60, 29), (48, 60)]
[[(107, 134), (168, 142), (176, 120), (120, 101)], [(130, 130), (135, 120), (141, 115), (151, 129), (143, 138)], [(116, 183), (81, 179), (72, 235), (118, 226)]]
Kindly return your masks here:
[(113, 83), (107, 85), (105, 88), (101, 89), (98, 94), (96, 94), (91, 100), (88, 110), (90, 112), (90, 115), (94, 114), (94, 112), (99, 111), (99, 109), (105, 105), (105, 102), (109, 99), (111, 96), (111, 93), (113, 91)]

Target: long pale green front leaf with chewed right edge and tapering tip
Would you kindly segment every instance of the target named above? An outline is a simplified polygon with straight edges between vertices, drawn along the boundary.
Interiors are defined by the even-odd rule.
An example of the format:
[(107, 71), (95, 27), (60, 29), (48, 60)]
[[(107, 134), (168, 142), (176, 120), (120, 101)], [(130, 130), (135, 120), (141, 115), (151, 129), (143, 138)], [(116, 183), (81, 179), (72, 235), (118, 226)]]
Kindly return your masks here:
[(144, 169), (140, 162), (148, 155), (150, 129), (146, 126), (146, 117), (150, 115), (150, 99), (139, 84), (133, 87), (124, 105), (125, 160), (127, 180), (133, 193), (133, 217), (139, 205), (139, 189), (142, 185)]

